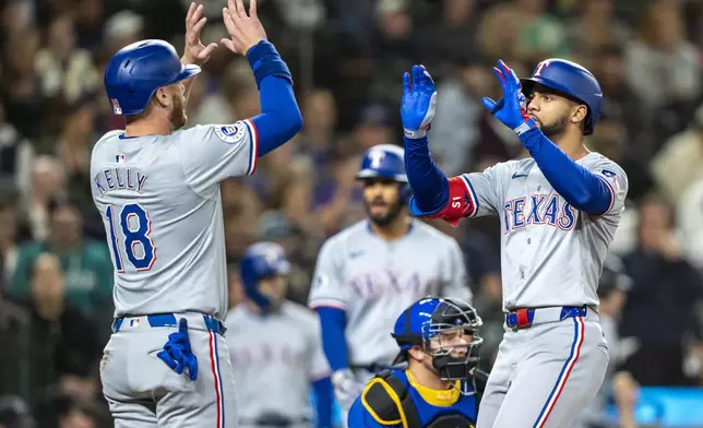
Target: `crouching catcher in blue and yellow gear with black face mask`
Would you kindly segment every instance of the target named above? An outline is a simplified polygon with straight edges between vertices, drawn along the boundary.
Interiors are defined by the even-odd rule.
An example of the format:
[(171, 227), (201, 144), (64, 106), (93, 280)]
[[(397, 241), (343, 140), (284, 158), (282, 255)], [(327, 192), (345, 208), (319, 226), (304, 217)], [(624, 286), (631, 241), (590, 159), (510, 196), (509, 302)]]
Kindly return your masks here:
[(487, 374), (477, 369), (481, 319), (458, 299), (426, 297), (395, 321), (401, 347), (349, 411), (350, 427), (474, 427)]

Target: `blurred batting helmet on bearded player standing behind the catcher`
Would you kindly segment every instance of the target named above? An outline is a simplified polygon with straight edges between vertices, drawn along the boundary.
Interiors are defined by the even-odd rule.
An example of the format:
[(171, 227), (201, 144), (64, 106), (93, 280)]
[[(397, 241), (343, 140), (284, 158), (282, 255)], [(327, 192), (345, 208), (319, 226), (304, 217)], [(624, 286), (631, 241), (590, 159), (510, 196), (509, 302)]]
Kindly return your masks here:
[(410, 197), (410, 187), (405, 174), (405, 153), (402, 147), (393, 144), (378, 144), (366, 151), (357, 179), (386, 178), (403, 183), (401, 199), (403, 202)]

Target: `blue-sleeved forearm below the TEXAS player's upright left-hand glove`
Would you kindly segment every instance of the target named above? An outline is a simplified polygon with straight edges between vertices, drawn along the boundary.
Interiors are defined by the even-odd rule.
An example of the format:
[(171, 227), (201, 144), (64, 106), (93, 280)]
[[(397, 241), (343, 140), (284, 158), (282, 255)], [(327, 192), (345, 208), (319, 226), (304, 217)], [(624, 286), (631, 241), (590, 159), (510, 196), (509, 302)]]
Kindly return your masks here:
[[(403, 138), (405, 145), (405, 171), (413, 189), (413, 214), (428, 215), (440, 211), (449, 201), (446, 176), (432, 160), (427, 136)], [(421, 211), (421, 213), (417, 212)]]

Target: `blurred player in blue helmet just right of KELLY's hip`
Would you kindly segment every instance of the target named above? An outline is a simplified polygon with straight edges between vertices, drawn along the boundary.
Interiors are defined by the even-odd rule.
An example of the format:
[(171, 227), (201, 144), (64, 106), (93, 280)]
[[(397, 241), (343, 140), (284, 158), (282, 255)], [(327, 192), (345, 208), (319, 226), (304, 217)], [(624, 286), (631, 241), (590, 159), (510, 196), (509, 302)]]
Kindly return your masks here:
[[(320, 321), (286, 300), (290, 264), (283, 247), (258, 242), (239, 261), (246, 300), (227, 314), (240, 427), (332, 427), (332, 382), (320, 342)], [(282, 388), (282, 385), (284, 385)]]

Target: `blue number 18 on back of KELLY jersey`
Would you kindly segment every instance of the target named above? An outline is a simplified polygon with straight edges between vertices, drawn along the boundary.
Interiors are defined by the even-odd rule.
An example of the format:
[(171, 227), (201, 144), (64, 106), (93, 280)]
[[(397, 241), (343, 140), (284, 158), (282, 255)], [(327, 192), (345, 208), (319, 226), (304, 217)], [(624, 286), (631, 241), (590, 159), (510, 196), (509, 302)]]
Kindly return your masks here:
[[(118, 214), (112, 205), (108, 205), (105, 215), (110, 225), (110, 247), (117, 272), (124, 272), (122, 251), (138, 271), (152, 269), (156, 261), (156, 247), (152, 241), (152, 221), (146, 211), (138, 203), (130, 203), (122, 206)], [(119, 225), (122, 239), (115, 228), (116, 223)], [(135, 252), (138, 247), (141, 247), (141, 254)]]

